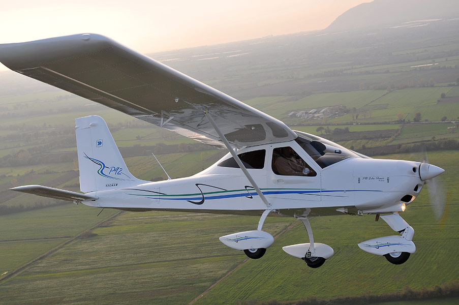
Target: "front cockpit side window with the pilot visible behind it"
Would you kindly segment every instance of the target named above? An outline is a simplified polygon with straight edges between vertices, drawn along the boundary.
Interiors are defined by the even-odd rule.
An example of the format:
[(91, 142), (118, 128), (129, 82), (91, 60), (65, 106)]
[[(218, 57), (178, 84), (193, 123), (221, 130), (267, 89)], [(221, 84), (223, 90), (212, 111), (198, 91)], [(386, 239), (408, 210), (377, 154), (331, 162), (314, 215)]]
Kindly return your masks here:
[(272, 171), (283, 176), (317, 176), (317, 173), (290, 147), (272, 150)]

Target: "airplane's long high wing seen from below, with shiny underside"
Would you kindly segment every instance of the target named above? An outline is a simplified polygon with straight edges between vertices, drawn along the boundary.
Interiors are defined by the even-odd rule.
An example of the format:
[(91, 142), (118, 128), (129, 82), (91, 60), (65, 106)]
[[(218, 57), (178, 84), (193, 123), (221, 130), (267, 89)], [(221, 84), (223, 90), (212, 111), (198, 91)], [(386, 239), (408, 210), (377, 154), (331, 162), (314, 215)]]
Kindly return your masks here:
[(18, 73), (197, 141), (224, 147), (293, 140), (280, 120), (107, 37), (79, 34), (0, 45), (0, 62)]

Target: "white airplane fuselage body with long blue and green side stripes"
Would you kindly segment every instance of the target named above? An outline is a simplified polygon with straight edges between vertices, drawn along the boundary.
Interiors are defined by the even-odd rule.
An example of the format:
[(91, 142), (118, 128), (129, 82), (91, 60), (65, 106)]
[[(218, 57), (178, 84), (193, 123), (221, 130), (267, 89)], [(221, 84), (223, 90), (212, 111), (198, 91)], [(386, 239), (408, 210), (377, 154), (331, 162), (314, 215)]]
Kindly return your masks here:
[[(279, 175), (271, 169), (273, 151), (292, 146), (315, 176)], [(280, 216), (379, 214), (402, 211), (424, 182), (419, 162), (350, 157), (321, 168), (295, 141), (242, 149), (265, 150), (262, 168), (249, 172)], [(89, 193), (99, 197), (84, 201), (89, 206), (131, 210), (183, 210), (260, 215), (265, 204), (238, 167), (222, 166), (228, 154), (206, 170), (186, 178), (147, 182), (135, 187)]]

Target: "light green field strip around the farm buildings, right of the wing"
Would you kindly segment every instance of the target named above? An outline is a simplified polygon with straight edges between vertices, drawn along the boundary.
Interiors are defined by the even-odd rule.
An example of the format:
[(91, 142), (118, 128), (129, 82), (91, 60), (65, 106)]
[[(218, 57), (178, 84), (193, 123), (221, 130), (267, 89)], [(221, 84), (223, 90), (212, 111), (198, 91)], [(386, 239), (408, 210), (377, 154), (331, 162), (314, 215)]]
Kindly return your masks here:
[(339, 105), (345, 105), (347, 109), (355, 108), (356, 113), (359, 113), (358, 118), (354, 119), (350, 113), (340, 114), (336, 117), (328, 117), (326, 120), (322, 119), (322, 121), (321, 119), (308, 121), (308, 125), (377, 124), (379, 122), (388, 124), (390, 122), (396, 123), (399, 115), (402, 115), (402, 118), (407, 121), (413, 121), (416, 112), (420, 112), (422, 121), (440, 121), (443, 117), (446, 120), (456, 120), (459, 116), (459, 102), (455, 100), (445, 103), (438, 102), (441, 94), (446, 93), (448, 93), (446, 98), (454, 98), (455, 87), (416, 87), (397, 89), (391, 92), (386, 90), (355, 90), (344, 93), (317, 93), (299, 100), (272, 96), (244, 102), (293, 125), (302, 125), (304, 120), (291, 115), (292, 112), (320, 110)]

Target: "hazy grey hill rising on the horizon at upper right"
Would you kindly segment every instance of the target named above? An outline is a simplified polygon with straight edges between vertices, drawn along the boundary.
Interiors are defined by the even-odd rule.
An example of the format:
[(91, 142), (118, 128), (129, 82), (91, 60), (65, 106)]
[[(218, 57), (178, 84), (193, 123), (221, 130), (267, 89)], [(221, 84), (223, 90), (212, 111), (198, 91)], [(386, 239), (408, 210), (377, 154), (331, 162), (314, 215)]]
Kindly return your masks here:
[(326, 29), (343, 31), (424, 19), (457, 17), (459, 17), (458, 0), (374, 0), (346, 11)]

